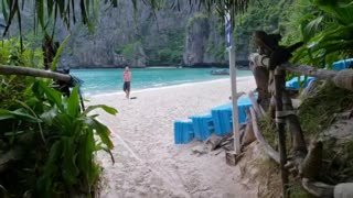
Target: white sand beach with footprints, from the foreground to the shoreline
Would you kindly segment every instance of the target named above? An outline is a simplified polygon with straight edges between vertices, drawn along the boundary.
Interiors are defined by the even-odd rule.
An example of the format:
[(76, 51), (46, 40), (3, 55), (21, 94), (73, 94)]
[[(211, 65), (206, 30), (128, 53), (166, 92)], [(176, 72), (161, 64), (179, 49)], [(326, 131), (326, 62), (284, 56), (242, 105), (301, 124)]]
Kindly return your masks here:
[[(132, 82), (133, 86), (133, 82)], [(255, 89), (253, 77), (237, 81), (238, 91)], [(115, 107), (116, 117), (103, 113), (99, 119), (113, 131), (116, 163), (107, 154), (98, 160), (105, 170), (101, 197), (256, 197), (256, 189), (239, 182), (239, 169), (225, 163), (225, 155), (195, 155), (193, 141), (174, 144), (173, 122), (190, 116), (210, 112), (211, 108), (229, 102), (228, 79), (133, 91), (100, 95), (90, 103)]]

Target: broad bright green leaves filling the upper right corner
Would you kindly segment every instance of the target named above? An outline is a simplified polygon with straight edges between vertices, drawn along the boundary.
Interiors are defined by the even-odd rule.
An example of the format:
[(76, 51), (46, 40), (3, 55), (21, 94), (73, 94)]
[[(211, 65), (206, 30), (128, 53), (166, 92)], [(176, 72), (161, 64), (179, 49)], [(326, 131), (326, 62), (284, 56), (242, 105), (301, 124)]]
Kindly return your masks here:
[(351, 57), (351, 1), (307, 0), (304, 9), (309, 12), (300, 21), (300, 31), (306, 45), (296, 53), (293, 62), (331, 68), (333, 62)]

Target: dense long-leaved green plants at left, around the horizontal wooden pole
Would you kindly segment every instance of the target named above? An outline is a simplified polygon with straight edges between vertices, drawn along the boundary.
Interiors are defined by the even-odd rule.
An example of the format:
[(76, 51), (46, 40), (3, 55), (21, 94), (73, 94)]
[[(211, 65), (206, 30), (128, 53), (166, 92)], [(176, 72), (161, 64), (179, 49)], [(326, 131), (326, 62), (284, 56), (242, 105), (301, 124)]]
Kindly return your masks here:
[[(11, 54), (11, 42), (3, 43), (1, 52)], [(20, 59), (30, 65), (25, 55)], [(50, 80), (0, 79), (0, 185), (17, 197), (89, 197), (100, 173), (94, 155), (113, 148), (109, 130), (89, 112), (117, 111), (93, 106), (81, 112), (77, 88), (66, 98), (49, 87)]]

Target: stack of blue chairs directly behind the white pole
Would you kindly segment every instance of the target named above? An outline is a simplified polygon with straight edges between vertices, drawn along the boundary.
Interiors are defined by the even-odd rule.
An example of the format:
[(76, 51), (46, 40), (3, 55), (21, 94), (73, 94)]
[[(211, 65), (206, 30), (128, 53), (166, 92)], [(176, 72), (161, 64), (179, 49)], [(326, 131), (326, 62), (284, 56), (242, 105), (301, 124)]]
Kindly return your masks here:
[[(238, 122), (246, 122), (246, 108), (253, 106), (249, 98), (242, 98), (237, 100), (238, 103)], [(220, 106), (211, 110), (212, 119), (214, 122), (214, 132), (216, 135), (225, 135), (232, 131), (232, 103)]]

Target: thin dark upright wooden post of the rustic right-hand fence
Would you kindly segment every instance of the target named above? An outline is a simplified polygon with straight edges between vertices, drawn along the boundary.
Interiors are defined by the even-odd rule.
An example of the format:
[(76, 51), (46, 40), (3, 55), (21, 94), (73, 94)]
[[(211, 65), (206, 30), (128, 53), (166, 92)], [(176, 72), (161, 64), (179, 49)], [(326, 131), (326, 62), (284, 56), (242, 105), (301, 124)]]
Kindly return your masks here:
[(286, 85), (286, 72), (276, 69), (275, 72), (275, 99), (276, 99), (276, 123), (278, 132), (278, 143), (279, 143), (279, 161), (280, 161), (280, 175), (282, 179), (282, 198), (288, 198), (288, 172), (285, 167), (287, 163), (287, 152), (286, 152), (286, 120), (279, 117), (279, 112), (284, 110), (282, 105), (282, 91)]

